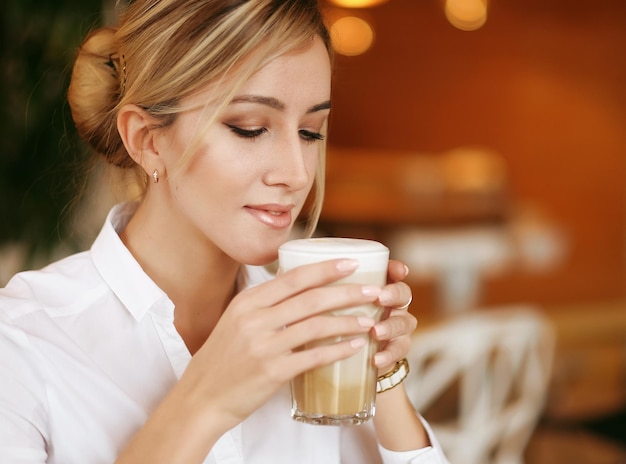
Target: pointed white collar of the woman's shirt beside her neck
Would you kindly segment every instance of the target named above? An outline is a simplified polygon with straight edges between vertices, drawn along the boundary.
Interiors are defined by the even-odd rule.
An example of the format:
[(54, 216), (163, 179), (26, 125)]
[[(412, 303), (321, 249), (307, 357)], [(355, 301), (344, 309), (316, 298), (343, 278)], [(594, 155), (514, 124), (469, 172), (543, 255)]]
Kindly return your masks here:
[(122, 203), (111, 209), (91, 247), (93, 262), (111, 291), (135, 319), (141, 319), (153, 307), (163, 307), (163, 303), (173, 315), (173, 303), (144, 272), (118, 235), (137, 206), (137, 203)]

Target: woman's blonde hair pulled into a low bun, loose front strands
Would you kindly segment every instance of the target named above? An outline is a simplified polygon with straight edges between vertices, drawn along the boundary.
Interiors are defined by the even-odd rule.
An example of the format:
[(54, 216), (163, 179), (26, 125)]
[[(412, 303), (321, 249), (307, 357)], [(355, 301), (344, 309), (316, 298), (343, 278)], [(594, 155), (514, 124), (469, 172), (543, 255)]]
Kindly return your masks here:
[[(135, 104), (167, 126), (180, 102), (217, 83), (217, 110), (272, 59), (330, 39), (317, 0), (135, 0), (118, 27), (92, 31), (74, 63), (68, 89), (80, 136), (112, 165), (139, 169), (117, 131), (117, 114)], [(185, 162), (193, 150), (181, 156)], [(312, 233), (324, 192), (325, 144), (305, 211)], [(142, 173), (145, 177), (145, 174)]]

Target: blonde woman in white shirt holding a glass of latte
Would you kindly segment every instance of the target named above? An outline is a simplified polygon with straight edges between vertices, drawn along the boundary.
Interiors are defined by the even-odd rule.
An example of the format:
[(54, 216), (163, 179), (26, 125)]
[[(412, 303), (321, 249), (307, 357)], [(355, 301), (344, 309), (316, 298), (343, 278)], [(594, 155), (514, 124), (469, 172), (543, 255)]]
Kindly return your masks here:
[[(365, 426), (289, 417), (291, 378), (362, 346), (296, 348), (371, 332), (384, 374), (416, 324), (400, 263), (383, 289), (324, 287), (350, 260), (262, 267), (319, 215), (329, 52), (314, 0), (137, 0), (87, 37), (73, 118), (145, 193), (0, 293), (0, 461), (445, 462), (401, 383)], [(376, 300), (378, 324), (321, 316)]]

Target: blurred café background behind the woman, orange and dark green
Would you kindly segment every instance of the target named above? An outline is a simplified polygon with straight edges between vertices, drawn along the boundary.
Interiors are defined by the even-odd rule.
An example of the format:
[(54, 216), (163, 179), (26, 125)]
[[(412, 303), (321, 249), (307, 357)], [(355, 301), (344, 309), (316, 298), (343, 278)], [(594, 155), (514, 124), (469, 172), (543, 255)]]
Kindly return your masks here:
[[(413, 375), (449, 367), (439, 397), (416, 390), (420, 410), (452, 448), (476, 420), (467, 404), (486, 423), (532, 397), (524, 427), (505, 437), (516, 419), (498, 415), (487, 454), (461, 464), (522, 462), (507, 446), (528, 463), (626, 462), (626, 2), (324, 6), (337, 54), (318, 234), (381, 240), (411, 268), (415, 345), (433, 350)], [(4, 7), (0, 284), (87, 248), (115, 201), (90, 188), (100, 171), (65, 102), (80, 38), (111, 11)]]

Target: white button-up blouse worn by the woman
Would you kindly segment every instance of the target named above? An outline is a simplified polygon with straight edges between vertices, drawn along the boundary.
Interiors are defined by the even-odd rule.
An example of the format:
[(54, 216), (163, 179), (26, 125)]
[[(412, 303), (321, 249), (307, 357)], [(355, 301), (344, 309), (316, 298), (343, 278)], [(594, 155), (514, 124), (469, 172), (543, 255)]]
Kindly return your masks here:
[[(191, 355), (174, 305), (117, 231), (135, 205), (115, 207), (91, 250), (0, 289), (0, 462), (112, 463), (181, 377)], [(248, 267), (247, 285), (271, 275)], [(445, 463), (433, 446), (396, 453), (371, 423), (291, 419), (285, 388), (224, 434), (205, 463)]]

